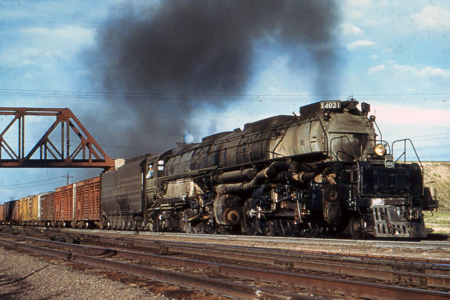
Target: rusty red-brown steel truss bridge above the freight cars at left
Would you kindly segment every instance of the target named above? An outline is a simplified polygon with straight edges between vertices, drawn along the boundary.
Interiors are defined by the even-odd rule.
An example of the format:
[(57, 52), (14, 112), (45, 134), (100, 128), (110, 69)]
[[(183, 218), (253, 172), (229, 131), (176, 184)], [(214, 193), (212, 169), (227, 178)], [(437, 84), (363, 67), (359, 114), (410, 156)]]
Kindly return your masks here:
[[(0, 107), (0, 116), (8, 115), (12, 116), (12, 120), (0, 133), (0, 168), (104, 168), (107, 170), (114, 167), (114, 160), (106, 155), (70, 109)], [(26, 116), (56, 117), (54, 123), (30, 151), (25, 150)], [(17, 148), (4, 139), (6, 132), (12, 130), (11, 127), (16, 122), (18, 124)], [(60, 146), (50, 141), (50, 134), (58, 126), (61, 127)], [(71, 140), (73, 136), (75, 138)], [(71, 145), (74, 140), (79, 140), (76, 146)], [(39, 158), (36, 158), (37, 156)]]

